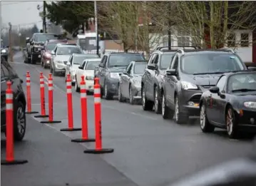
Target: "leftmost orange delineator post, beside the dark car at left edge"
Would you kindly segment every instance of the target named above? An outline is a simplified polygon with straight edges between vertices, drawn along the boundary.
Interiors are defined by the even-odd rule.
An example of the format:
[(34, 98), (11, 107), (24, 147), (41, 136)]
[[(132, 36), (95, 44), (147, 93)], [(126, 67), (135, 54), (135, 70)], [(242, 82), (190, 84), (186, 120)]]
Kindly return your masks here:
[(1, 160), (1, 165), (18, 165), (27, 160), (14, 160), (14, 95), (11, 82), (7, 82), (6, 89), (6, 160)]

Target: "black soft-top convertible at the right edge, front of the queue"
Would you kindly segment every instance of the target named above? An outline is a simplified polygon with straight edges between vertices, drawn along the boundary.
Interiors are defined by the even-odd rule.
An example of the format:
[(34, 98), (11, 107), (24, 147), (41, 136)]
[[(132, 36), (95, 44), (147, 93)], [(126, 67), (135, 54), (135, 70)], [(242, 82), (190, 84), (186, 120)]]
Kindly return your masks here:
[(230, 138), (256, 133), (256, 71), (225, 73), (200, 98), (200, 128), (227, 129)]

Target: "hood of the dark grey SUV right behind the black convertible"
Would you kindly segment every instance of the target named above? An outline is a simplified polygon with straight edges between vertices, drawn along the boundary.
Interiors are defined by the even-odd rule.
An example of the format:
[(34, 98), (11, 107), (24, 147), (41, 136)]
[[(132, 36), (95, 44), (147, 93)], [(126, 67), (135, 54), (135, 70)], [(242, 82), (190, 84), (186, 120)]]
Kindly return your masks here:
[(198, 86), (215, 86), (222, 74), (186, 75), (183, 80)]

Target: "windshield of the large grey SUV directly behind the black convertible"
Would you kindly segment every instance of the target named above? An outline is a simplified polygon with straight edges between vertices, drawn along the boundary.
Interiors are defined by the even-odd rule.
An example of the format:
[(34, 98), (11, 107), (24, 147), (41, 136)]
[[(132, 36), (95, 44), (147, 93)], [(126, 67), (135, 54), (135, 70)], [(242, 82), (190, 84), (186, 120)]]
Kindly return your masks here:
[(244, 70), (242, 61), (228, 53), (198, 53), (183, 56), (181, 70), (188, 74), (225, 73)]

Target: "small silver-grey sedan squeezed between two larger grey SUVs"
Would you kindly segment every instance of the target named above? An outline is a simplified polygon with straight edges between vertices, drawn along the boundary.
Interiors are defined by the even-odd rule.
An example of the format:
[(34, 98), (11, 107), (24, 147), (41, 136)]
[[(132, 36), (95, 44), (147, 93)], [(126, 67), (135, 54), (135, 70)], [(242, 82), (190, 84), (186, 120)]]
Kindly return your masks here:
[(130, 104), (141, 99), (141, 77), (148, 61), (131, 61), (126, 70), (121, 73), (118, 86), (118, 100), (129, 99)]

